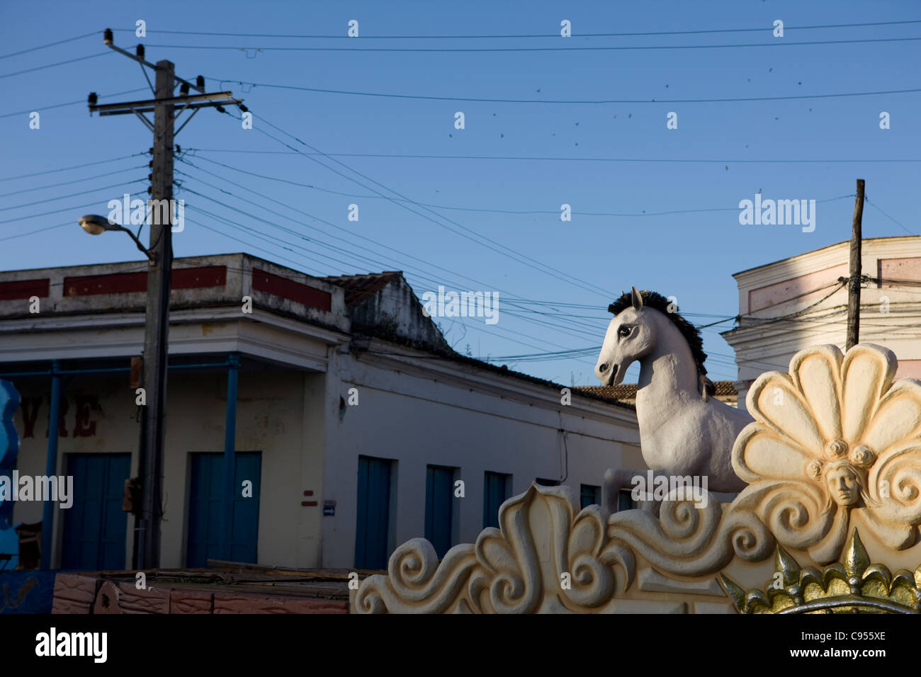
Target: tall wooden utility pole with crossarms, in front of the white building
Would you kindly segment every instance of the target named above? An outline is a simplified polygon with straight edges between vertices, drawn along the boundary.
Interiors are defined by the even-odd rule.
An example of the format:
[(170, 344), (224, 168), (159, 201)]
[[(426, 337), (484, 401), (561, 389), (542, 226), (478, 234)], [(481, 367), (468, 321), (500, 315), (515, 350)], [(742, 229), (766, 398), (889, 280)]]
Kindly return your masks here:
[[(125, 52), (115, 46), (111, 29), (103, 33), (103, 41), (112, 50), (134, 59), (156, 74), (154, 99), (127, 101), (99, 105), (96, 94), (89, 95), (89, 111), (99, 115), (136, 115), (154, 133), (151, 148), (153, 161), (150, 163), (150, 200), (147, 203), (146, 223), (150, 228), (150, 245), (146, 250), (147, 304), (144, 332), (144, 389), (146, 406), (141, 423), (141, 445), (138, 469), (141, 475), (140, 514), (134, 535), (136, 566), (157, 568), (160, 566), (160, 522), (163, 510), (163, 449), (166, 435), (167, 408), (167, 361), (169, 344), (169, 286), (172, 272), (172, 218), (173, 208), (173, 139), (192, 117), (202, 108), (216, 108), (224, 111), (221, 104), (242, 106), (242, 99), (234, 99), (230, 92), (204, 91), (204, 77), (198, 76), (194, 84), (176, 76), (176, 68), (169, 61), (151, 64), (145, 59), (144, 45), (138, 45), (136, 53)], [(143, 68), (142, 68), (143, 70)], [(146, 71), (145, 71), (146, 77)], [(180, 95), (175, 96), (177, 82), (181, 83)], [(149, 83), (149, 79), (148, 79)], [(191, 94), (194, 89), (200, 94)], [(183, 111), (188, 117), (178, 130), (173, 130), (176, 118)], [(144, 113), (153, 112), (151, 123)], [(143, 249), (143, 247), (142, 247)], [(232, 496), (225, 496), (229, 507)], [(227, 513), (228, 510), (225, 510)], [(227, 520), (227, 516), (224, 517)], [(224, 553), (229, 558), (229, 554)]]

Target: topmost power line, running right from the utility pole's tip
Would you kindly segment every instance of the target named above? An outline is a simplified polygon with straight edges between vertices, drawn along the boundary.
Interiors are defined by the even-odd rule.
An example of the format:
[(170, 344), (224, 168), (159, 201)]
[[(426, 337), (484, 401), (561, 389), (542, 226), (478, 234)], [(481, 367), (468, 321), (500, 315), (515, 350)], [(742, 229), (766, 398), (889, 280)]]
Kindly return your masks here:
[[(806, 29), (850, 29), (850, 28), (867, 28), (869, 26), (900, 26), (921, 23), (921, 19), (910, 19), (904, 21), (876, 21), (872, 23), (853, 23), (853, 24), (821, 24), (813, 26), (786, 26), (785, 30), (806, 30)], [(135, 29), (114, 29), (120, 32), (134, 33)], [(574, 38), (626, 38), (634, 36), (647, 35), (697, 35), (702, 33), (745, 33), (770, 31), (771, 27), (761, 26), (755, 29), (700, 29), (700, 30), (656, 30), (646, 32), (631, 33), (579, 33), (573, 35)], [(201, 30), (148, 30), (148, 33), (169, 33), (174, 35), (207, 35), (221, 36), (228, 38), (299, 38), (299, 39), (322, 39), (322, 40), (354, 40), (347, 35), (291, 35), (279, 33), (219, 33), (204, 32)], [(92, 33), (90, 33), (92, 35)], [(81, 36), (86, 37), (86, 36)], [(507, 39), (507, 38), (559, 38), (559, 33), (537, 33), (530, 35), (362, 35), (361, 40), (485, 40), (485, 39)]]

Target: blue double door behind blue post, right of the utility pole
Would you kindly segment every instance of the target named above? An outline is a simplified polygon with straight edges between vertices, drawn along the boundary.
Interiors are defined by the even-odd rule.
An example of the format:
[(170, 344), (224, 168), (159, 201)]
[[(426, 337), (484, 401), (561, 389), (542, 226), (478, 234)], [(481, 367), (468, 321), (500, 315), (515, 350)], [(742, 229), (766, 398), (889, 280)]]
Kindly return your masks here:
[[(259, 544), (259, 492), (262, 452), (235, 454), (233, 518), (230, 559), (255, 563)], [(252, 484), (252, 496), (243, 495), (243, 482)], [(189, 493), (189, 538), (186, 566), (208, 566), (208, 559), (223, 559), (221, 510), (224, 490), (224, 454), (192, 454), (192, 487)]]

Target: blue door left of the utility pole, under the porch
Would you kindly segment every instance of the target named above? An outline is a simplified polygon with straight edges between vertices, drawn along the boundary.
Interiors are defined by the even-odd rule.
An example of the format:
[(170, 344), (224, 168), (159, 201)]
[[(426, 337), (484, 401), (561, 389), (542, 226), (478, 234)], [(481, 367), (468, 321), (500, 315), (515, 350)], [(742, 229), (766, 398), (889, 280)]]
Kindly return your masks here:
[(123, 569), (128, 514), (122, 512), (131, 454), (67, 454), (74, 504), (64, 513), (64, 569)]

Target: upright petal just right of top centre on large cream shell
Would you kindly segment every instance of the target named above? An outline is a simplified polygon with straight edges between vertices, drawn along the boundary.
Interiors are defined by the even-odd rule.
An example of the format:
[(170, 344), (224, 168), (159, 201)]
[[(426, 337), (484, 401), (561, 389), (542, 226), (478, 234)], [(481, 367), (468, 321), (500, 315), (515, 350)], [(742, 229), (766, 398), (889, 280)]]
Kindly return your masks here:
[(897, 367), (892, 351), (880, 345), (857, 344), (847, 351), (841, 366), (845, 439), (860, 438)]

